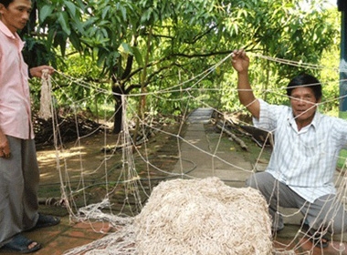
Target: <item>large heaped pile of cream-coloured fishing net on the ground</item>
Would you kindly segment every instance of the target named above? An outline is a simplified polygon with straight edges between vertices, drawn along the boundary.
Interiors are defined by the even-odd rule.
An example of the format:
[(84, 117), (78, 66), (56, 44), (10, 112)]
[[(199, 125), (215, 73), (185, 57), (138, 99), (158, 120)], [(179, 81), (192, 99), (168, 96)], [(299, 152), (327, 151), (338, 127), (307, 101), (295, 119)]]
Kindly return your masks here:
[(161, 182), (121, 230), (66, 254), (271, 254), (268, 206), (258, 190), (217, 178)]

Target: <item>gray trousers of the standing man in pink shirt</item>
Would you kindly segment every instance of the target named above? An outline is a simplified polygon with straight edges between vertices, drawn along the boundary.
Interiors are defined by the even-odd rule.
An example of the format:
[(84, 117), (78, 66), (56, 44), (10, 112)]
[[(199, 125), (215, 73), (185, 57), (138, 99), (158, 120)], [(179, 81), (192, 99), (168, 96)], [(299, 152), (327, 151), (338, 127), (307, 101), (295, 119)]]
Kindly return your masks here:
[(38, 219), (35, 141), (8, 137), (11, 158), (0, 158), (0, 247)]

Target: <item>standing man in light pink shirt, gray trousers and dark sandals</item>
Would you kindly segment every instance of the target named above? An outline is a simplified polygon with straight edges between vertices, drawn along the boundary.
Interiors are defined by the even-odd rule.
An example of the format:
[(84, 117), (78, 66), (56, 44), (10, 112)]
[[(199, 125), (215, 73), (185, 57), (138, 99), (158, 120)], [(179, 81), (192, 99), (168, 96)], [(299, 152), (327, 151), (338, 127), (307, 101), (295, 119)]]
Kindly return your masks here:
[(28, 79), (51, 66), (28, 68), (16, 31), (26, 26), (30, 0), (0, 0), (0, 248), (21, 253), (41, 245), (22, 232), (56, 225), (37, 212), (39, 170), (31, 120)]

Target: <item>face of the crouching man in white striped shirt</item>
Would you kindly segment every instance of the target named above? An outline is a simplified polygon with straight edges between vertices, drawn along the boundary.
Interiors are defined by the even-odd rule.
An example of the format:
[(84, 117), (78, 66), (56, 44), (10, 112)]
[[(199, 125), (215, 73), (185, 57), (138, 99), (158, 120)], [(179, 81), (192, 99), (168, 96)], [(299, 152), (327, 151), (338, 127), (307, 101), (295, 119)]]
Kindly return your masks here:
[(290, 105), (298, 127), (308, 126), (319, 103), (310, 87), (296, 87), (291, 91)]

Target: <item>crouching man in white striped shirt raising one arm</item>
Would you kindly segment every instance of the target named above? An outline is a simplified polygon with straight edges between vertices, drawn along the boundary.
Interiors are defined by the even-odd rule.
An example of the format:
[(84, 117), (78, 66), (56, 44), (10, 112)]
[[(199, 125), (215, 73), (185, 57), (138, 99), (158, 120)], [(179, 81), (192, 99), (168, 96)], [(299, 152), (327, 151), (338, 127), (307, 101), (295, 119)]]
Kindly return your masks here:
[(287, 87), (290, 107), (276, 106), (254, 96), (244, 50), (234, 51), (232, 64), (240, 102), (252, 114), (254, 125), (275, 138), (268, 168), (247, 179), (247, 186), (267, 200), (274, 232), (284, 228), (279, 207), (297, 208), (310, 240), (327, 247), (327, 232), (347, 230), (347, 215), (333, 179), (340, 150), (347, 146), (347, 121), (317, 110), (321, 83), (314, 76), (293, 78)]

